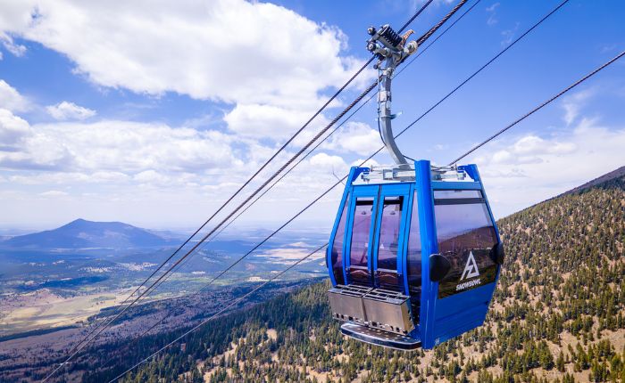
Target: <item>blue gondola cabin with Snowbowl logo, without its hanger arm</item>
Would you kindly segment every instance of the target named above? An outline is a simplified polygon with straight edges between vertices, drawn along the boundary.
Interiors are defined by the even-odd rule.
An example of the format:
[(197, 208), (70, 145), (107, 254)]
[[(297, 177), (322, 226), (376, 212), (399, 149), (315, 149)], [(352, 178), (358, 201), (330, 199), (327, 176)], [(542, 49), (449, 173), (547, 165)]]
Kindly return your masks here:
[(421, 160), (351, 169), (326, 257), (341, 331), (409, 350), (484, 322), (504, 250), (478, 168)]

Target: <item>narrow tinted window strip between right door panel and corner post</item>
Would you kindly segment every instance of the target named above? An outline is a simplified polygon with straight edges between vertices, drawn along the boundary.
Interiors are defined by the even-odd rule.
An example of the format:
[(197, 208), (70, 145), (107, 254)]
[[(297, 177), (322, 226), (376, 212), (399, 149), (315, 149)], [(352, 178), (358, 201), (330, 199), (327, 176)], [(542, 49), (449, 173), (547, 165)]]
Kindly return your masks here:
[(412, 318), (419, 322), (421, 306), (421, 232), (419, 232), (419, 208), (416, 193), (412, 202), (410, 232), (408, 233), (408, 288), (412, 303)]

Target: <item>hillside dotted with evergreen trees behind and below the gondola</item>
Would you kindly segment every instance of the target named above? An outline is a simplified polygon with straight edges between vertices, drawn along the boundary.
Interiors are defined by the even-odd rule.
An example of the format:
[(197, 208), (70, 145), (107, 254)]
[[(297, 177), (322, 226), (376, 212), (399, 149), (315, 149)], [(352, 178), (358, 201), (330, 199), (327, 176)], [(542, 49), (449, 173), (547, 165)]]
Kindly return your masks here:
[[(507, 259), (487, 322), (434, 350), (343, 338), (321, 283), (212, 322), (125, 381), (625, 382), (625, 176), (499, 227)], [(171, 338), (142, 340), (127, 363)]]

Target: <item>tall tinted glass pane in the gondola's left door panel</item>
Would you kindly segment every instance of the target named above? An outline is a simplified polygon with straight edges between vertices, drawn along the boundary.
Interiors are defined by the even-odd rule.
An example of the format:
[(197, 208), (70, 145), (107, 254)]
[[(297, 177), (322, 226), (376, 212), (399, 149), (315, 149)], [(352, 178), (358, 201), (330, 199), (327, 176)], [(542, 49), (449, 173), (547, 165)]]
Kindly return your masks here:
[(368, 256), (372, 216), (373, 198), (358, 197), (354, 209), (354, 224), (349, 252), (349, 273), (354, 281), (368, 282)]

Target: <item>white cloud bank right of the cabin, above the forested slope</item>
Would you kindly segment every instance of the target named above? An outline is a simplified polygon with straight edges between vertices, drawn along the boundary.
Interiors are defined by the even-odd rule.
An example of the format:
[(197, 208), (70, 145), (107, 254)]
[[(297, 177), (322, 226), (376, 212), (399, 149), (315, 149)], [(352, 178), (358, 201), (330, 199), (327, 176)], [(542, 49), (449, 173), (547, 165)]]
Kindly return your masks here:
[(625, 165), (625, 128), (582, 118), (551, 137), (526, 134), (491, 143), (477, 163), (496, 216), (506, 216)]

